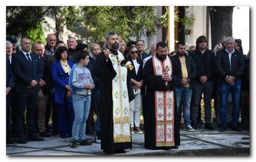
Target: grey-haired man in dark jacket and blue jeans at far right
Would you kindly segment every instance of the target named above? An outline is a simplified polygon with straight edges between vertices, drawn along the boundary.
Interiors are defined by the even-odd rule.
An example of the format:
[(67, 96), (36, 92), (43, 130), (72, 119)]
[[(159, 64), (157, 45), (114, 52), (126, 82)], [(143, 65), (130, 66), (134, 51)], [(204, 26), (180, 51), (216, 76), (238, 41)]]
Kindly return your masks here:
[(232, 131), (241, 132), (238, 128), (241, 76), (244, 71), (244, 57), (240, 51), (235, 50), (235, 39), (226, 38), (225, 48), (216, 55), (216, 71), (221, 78), (220, 82), (220, 132), (227, 130), (226, 108), (229, 92), (232, 94), (233, 113)]

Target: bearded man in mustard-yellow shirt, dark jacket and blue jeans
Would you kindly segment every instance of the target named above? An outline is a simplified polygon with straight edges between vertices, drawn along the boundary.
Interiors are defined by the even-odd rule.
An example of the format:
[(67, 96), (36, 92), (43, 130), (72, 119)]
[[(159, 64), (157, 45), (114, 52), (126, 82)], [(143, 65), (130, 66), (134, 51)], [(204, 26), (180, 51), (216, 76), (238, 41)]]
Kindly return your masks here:
[[(179, 106), (183, 106), (183, 117), (185, 129), (189, 132), (195, 132), (190, 125), (190, 102), (192, 97), (191, 81), (196, 77), (196, 65), (192, 57), (185, 51), (185, 42), (179, 41), (176, 45), (177, 53), (172, 58), (175, 64), (181, 68), (182, 79), (179, 87), (175, 88), (177, 112)], [(180, 115), (178, 115), (180, 116)]]

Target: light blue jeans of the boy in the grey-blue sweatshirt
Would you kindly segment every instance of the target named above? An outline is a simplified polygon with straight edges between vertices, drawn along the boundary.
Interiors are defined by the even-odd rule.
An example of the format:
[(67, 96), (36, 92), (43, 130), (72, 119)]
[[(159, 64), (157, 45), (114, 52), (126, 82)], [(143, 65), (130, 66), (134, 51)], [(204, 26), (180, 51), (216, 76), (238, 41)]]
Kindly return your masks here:
[(85, 129), (86, 129), (86, 121), (90, 111), (91, 105), (91, 96), (83, 97), (79, 95), (72, 95), (72, 101), (75, 112), (75, 120), (72, 128), (72, 138), (71, 141), (85, 140)]

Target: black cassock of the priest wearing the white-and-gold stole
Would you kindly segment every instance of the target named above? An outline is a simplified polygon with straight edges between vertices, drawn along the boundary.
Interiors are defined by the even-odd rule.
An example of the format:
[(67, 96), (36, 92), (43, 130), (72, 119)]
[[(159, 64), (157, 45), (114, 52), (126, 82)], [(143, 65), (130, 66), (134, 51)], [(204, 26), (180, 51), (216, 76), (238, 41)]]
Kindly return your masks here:
[[(116, 53), (117, 51), (111, 51)], [(116, 76), (116, 71), (112, 66), (112, 62), (105, 60), (104, 52), (100, 53), (95, 62), (95, 75), (100, 79), (100, 129), (101, 129), (101, 149), (105, 152), (113, 152), (119, 149), (132, 148), (131, 142), (114, 143), (113, 137), (113, 103), (112, 103), (112, 79)], [(129, 75), (129, 73), (127, 73)], [(134, 99), (131, 78), (127, 76), (127, 87), (129, 102)]]

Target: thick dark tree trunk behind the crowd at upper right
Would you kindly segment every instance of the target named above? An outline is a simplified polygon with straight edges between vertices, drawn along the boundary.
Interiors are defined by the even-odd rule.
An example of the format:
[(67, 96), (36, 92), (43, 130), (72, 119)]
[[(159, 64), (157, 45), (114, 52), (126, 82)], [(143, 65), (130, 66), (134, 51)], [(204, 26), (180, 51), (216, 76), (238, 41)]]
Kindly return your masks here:
[(234, 6), (209, 7), (212, 34), (212, 49), (221, 44), (227, 36), (232, 36)]

